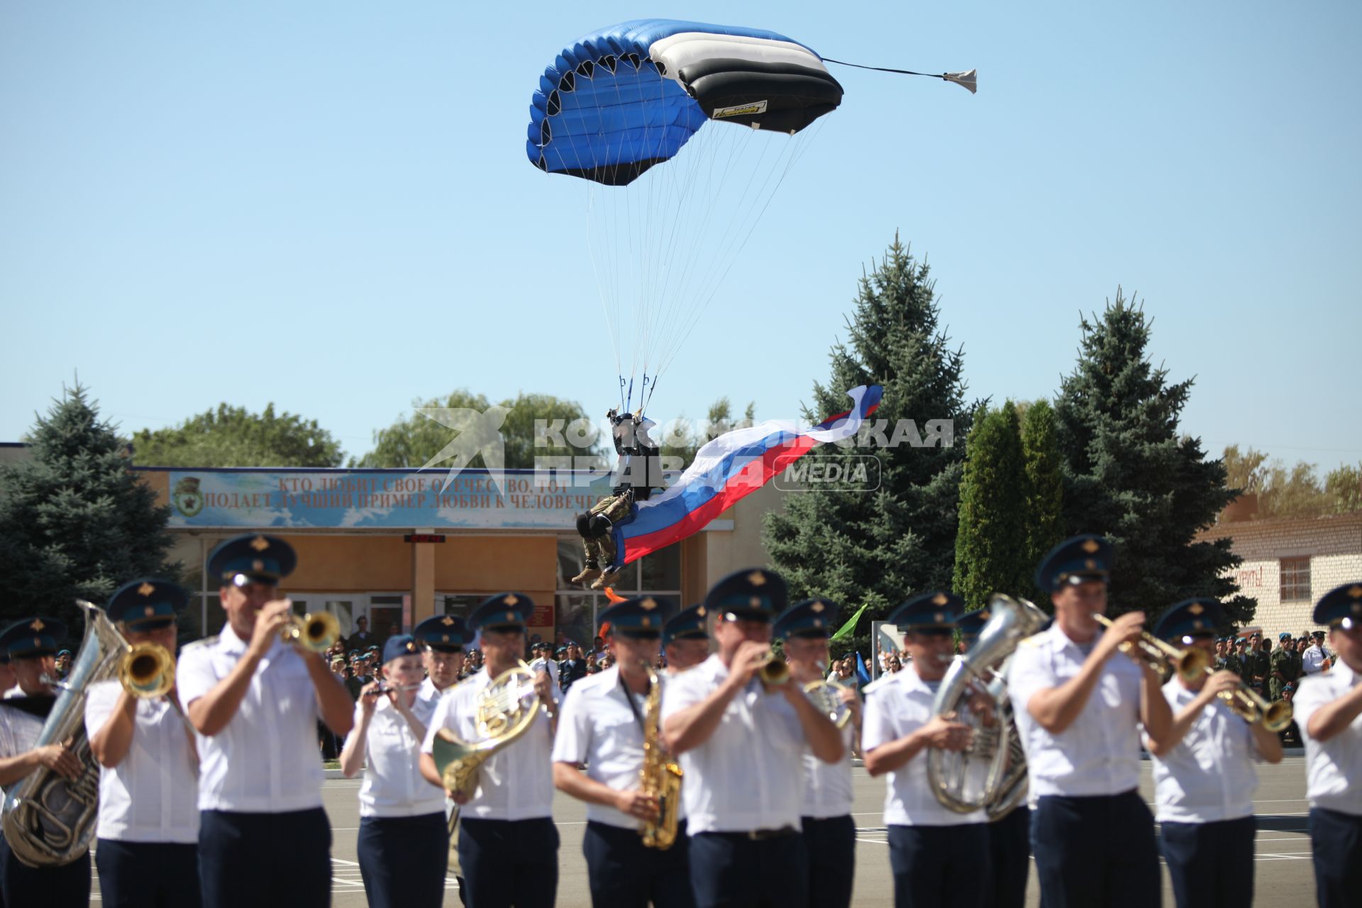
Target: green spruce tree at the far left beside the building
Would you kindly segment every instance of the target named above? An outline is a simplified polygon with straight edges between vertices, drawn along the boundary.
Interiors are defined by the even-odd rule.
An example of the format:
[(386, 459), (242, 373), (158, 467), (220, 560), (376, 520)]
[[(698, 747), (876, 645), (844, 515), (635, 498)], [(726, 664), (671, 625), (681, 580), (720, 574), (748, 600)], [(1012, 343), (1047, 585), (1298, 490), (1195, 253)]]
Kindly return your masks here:
[(0, 467), (0, 619), (56, 615), (80, 633), (76, 599), (104, 604), (133, 577), (176, 579), (169, 506), (129, 470), (127, 445), (79, 384), (30, 433), (33, 459)]

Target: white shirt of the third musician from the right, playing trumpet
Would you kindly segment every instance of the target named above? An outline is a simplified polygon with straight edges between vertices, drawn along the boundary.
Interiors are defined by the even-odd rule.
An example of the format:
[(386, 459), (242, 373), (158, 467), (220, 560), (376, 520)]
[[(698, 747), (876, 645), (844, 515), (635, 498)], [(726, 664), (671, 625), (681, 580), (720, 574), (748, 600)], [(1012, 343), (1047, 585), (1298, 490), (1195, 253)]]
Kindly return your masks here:
[[(1096, 640), (1096, 638), (1094, 638)], [(1026, 750), (1031, 798), (1118, 795), (1140, 784), (1140, 677), (1143, 668), (1121, 653), (1102, 666), (1096, 686), (1068, 728), (1051, 735), (1026, 705), (1083, 668), (1087, 656), (1053, 625), (1027, 637), (1012, 655), (1008, 694)]]

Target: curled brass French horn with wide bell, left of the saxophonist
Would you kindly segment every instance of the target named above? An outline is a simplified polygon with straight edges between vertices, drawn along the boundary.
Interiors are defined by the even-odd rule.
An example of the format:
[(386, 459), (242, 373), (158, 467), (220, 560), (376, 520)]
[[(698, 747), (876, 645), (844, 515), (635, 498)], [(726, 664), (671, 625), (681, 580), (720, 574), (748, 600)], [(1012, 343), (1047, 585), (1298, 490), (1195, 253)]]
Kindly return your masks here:
[(434, 732), (430, 757), (447, 791), (462, 791), (471, 798), (478, 790), (478, 768), (530, 730), (543, 708), (534, 693), (534, 675), (522, 662), (482, 690), (475, 720), (479, 741), (462, 741), (448, 728)]

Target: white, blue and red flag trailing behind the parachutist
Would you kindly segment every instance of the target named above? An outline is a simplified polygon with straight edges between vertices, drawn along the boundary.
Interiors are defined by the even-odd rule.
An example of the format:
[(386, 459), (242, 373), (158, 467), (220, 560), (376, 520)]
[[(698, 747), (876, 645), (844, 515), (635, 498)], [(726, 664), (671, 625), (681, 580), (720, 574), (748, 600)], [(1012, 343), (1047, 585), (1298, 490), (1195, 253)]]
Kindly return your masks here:
[(850, 438), (880, 406), (880, 385), (847, 392), (853, 407), (816, 426), (771, 419), (706, 444), (676, 485), (635, 505), (633, 520), (616, 527), (617, 564), (629, 564), (697, 532), (727, 508), (785, 471), (810, 448)]

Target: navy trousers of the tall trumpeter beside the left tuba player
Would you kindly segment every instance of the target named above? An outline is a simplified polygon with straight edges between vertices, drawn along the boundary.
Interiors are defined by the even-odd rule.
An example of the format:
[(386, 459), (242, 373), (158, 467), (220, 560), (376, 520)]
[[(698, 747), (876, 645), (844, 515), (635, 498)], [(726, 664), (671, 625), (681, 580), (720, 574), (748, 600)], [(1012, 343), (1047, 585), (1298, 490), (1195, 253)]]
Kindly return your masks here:
[(199, 813), (204, 908), (328, 908), (331, 824), (321, 807)]

